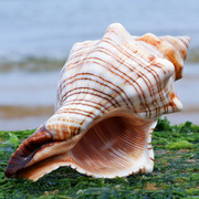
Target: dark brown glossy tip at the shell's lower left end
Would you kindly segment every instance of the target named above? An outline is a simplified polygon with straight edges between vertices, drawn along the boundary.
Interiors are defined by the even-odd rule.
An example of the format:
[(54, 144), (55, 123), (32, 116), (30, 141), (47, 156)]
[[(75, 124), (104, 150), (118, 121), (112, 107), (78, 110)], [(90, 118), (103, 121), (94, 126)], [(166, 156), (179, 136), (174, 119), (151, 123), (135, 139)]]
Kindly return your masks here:
[(21, 171), (31, 163), (35, 153), (40, 150), (43, 145), (52, 142), (52, 134), (48, 132), (44, 126), (41, 126), (38, 130), (35, 130), (33, 136), (25, 139), (12, 155), (4, 171), (4, 176), (9, 178), (17, 177), (17, 172)]

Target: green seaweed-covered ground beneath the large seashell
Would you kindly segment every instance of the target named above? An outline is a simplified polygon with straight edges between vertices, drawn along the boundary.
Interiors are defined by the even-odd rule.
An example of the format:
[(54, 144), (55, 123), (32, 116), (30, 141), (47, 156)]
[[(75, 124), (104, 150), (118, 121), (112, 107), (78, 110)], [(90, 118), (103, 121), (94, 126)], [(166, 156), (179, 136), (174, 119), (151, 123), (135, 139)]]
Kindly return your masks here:
[(95, 179), (62, 167), (33, 182), (4, 177), (8, 160), (33, 130), (0, 132), (0, 199), (197, 198), (199, 196), (199, 126), (187, 122), (170, 126), (158, 119), (153, 134), (151, 174)]

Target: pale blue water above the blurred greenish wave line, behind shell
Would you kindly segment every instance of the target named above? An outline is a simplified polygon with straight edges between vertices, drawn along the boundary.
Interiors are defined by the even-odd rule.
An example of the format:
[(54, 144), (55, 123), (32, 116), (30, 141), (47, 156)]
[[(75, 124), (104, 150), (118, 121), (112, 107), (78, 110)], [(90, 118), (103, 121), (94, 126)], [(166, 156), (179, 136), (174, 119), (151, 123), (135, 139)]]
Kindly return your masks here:
[(0, 57), (65, 57), (113, 22), (132, 34), (189, 35), (199, 46), (198, 0), (0, 0)]

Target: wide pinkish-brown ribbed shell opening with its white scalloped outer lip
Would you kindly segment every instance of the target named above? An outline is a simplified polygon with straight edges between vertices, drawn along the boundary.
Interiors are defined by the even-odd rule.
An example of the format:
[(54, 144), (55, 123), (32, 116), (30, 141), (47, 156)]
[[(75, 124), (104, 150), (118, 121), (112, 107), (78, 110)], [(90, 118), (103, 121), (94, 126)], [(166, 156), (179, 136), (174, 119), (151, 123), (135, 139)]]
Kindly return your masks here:
[(154, 153), (150, 138), (155, 125), (156, 121), (133, 115), (101, 121), (71, 150), (75, 169), (106, 178), (151, 171)]

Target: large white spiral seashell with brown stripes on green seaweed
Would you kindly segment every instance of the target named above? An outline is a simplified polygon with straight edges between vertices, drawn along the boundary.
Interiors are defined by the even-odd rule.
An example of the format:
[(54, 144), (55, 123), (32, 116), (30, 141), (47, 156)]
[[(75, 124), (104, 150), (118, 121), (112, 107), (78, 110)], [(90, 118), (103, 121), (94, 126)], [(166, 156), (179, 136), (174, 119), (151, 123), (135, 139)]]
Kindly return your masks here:
[(38, 180), (71, 166), (93, 177), (150, 172), (157, 118), (182, 104), (188, 36), (132, 36), (109, 25), (97, 41), (76, 43), (62, 69), (54, 115), (17, 149), (8, 177)]

